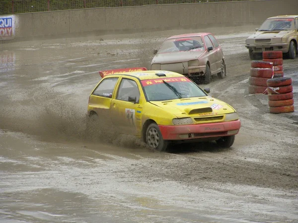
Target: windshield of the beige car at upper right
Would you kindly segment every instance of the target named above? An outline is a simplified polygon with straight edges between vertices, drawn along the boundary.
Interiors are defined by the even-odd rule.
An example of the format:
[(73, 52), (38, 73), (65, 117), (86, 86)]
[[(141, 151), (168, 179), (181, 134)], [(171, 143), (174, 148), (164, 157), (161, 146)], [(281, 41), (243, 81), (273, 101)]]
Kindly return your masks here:
[(267, 19), (258, 31), (294, 30), (293, 18)]

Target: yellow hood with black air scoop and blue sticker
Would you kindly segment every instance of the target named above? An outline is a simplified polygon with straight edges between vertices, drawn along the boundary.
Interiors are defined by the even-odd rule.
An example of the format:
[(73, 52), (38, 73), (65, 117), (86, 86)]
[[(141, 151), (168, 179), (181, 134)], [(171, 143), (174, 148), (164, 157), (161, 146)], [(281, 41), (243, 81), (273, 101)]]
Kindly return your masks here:
[(235, 112), (228, 104), (211, 96), (175, 99), (163, 102), (150, 101), (150, 103), (172, 112), (177, 117), (194, 117)]

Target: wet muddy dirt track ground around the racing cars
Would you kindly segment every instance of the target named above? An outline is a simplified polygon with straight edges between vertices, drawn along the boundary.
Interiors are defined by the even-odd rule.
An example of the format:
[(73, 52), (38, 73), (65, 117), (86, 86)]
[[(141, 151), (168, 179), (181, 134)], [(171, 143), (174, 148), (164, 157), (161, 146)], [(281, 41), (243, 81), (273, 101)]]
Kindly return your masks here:
[[(298, 112), (271, 114), (266, 95), (248, 95), (244, 42), (254, 28), (3, 45), (0, 222), (298, 222)], [(240, 115), (233, 146), (184, 144), (159, 153), (131, 136), (88, 137), (98, 71), (149, 68), (164, 38), (190, 32), (212, 32), (223, 47), (227, 76), (208, 86)], [(298, 58), (284, 60), (294, 87), (297, 67)], [(294, 95), (297, 105), (297, 88)]]

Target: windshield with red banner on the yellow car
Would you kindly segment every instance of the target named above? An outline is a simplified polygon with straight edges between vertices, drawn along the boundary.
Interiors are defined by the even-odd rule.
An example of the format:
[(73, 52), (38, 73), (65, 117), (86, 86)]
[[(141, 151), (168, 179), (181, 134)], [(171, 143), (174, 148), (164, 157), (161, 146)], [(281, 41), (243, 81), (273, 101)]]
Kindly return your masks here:
[(186, 77), (158, 78), (141, 81), (149, 101), (205, 97), (206, 94)]

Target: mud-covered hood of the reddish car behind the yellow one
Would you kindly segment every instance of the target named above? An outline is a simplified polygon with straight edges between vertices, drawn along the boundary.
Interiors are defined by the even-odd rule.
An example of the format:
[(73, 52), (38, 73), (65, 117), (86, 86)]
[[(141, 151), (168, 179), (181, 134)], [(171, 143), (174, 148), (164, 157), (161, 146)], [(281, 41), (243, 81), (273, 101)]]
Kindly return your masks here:
[(205, 51), (183, 51), (174, 53), (157, 54), (153, 57), (152, 63), (176, 63), (187, 62), (192, 59), (198, 59)]

